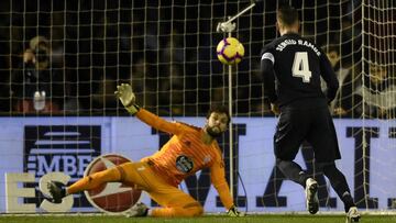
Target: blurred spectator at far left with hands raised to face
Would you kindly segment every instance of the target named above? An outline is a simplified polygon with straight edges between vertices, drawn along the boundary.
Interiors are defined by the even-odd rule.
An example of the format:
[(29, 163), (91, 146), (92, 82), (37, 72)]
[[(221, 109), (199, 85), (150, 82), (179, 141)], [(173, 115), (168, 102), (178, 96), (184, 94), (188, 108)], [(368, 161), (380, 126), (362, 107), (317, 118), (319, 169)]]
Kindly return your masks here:
[(23, 60), (12, 74), (14, 111), (56, 113), (64, 98), (63, 73), (52, 67), (51, 46), (44, 36), (35, 36), (23, 53)]

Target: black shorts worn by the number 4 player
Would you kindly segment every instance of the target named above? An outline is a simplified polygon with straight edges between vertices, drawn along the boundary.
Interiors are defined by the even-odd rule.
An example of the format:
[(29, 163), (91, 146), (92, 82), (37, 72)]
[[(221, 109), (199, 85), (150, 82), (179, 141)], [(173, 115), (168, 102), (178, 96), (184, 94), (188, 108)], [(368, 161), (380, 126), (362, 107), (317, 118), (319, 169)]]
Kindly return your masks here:
[(326, 104), (316, 108), (282, 108), (274, 135), (276, 158), (295, 159), (304, 141), (314, 147), (317, 163), (341, 158), (334, 124)]

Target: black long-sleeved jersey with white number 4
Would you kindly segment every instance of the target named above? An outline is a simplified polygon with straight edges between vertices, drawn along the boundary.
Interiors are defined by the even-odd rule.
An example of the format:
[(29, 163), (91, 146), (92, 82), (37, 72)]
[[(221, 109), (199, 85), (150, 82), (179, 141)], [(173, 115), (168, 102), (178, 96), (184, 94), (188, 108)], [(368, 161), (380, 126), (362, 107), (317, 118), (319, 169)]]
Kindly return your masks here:
[[(304, 99), (330, 102), (339, 87), (326, 54), (295, 33), (285, 34), (264, 46), (261, 71), (265, 94), (280, 108)], [(320, 77), (327, 82), (326, 93), (321, 90)]]

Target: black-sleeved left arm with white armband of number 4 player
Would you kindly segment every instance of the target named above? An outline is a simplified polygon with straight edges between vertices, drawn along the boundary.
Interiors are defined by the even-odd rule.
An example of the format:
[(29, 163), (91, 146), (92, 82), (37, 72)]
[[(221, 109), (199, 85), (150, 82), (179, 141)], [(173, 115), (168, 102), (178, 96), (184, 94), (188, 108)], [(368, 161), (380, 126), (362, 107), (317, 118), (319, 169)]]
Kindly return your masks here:
[(277, 96), (275, 91), (275, 71), (274, 71), (275, 57), (270, 52), (264, 52), (261, 58), (261, 74), (264, 81), (264, 94), (268, 97), (271, 102), (271, 110), (275, 113), (279, 113), (279, 109), (276, 104)]

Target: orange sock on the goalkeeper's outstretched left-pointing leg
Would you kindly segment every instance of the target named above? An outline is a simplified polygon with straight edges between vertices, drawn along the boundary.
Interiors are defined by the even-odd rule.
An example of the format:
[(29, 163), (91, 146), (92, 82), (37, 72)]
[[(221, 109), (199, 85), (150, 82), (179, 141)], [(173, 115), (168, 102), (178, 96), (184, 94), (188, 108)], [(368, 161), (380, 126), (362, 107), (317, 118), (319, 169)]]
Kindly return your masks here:
[(73, 183), (70, 187), (67, 188), (67, 193), (76, 193), (84, 190), (89, 190), (99, 187), (100, 185), (105, 182), (110, 181), (119, 181), (120, 180), (120, 172), (118, 168), (111, 168), (103, 171), (95, 172), (94, 175), (84, 177), (82, 179), (79, 179), (75, 183)]

